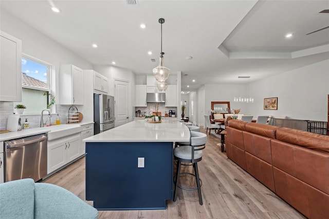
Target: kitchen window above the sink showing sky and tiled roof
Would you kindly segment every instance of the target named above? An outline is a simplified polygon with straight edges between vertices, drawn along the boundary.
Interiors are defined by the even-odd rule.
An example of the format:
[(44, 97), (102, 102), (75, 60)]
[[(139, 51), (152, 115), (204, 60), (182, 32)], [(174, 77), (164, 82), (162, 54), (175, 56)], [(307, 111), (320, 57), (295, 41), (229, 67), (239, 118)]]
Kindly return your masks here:
[(52, 100), (51, 65), (41, 60), (22, 55), (22, 102), (24, 114), (40, 113)]

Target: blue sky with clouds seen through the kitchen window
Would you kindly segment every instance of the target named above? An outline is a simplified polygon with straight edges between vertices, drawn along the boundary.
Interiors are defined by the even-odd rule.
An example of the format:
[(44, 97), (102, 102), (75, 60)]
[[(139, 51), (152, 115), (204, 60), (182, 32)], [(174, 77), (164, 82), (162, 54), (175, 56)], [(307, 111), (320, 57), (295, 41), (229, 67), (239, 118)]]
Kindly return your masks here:
[(27, 76), (47, 83), (47, 66), (22, 58), (22, 72)]

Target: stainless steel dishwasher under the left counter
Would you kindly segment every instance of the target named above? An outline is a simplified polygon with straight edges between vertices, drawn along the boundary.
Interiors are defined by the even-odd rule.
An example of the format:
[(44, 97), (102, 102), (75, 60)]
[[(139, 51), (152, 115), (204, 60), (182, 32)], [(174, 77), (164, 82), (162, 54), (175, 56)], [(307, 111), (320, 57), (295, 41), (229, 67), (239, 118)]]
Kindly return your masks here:
[(5, 181), (47, 175), (47, 134), (5, 141)]

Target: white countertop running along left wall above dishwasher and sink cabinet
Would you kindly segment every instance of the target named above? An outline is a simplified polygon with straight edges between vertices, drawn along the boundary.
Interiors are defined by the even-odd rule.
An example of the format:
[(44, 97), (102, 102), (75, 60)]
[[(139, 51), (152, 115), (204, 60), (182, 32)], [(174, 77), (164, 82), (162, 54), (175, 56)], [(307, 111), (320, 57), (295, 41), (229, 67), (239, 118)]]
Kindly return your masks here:
[(22, 131), (17, 132), (8, 132), (0, 134), (0, 141), (6, 141), (16, 138), (23, 138), (31, 135), (38, 135), (42, 133), (48, 133), (51, 131), (58, 131), (61, 129), (69, 129), (70, 127), (74, 128), (81, 125), (93, 124), (94, 122), (82, 122), (82, 123), (72, 123), (72, 124), (60, 124), (60, 125), (51, 125), (45, 127), (38, 127), (32, 129), (23, 129)]

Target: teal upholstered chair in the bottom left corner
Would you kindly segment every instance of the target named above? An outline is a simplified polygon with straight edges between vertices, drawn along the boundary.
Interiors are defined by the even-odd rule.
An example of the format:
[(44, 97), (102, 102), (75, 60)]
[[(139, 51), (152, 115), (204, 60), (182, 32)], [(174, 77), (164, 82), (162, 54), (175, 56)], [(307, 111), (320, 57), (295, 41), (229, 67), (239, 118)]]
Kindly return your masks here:
[(62, 187), (33, 179), (0, 184), (1, 218), (97, 218), (98, 211)]

